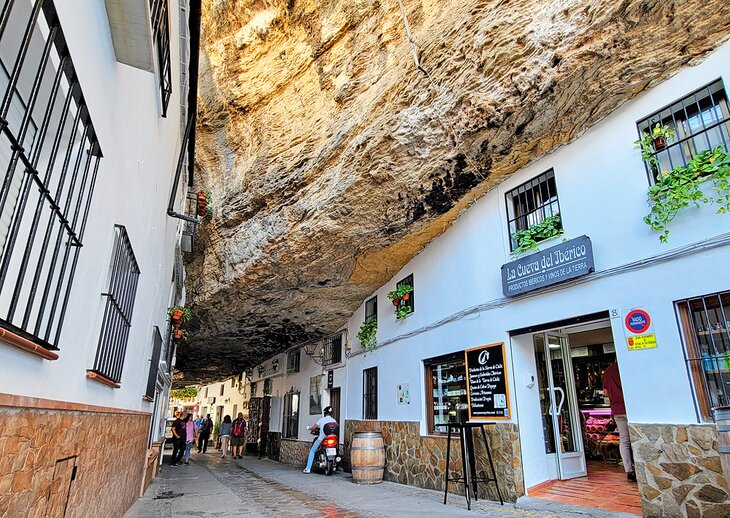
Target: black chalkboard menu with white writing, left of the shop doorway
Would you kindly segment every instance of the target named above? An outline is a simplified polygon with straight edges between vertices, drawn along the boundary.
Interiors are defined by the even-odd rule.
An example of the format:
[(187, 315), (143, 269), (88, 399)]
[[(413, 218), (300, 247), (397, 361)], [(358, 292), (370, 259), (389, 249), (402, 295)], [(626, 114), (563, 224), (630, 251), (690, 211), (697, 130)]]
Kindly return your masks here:
[(509, 419), (509, 384), (504, 344), (467, 349), (464, 351), (464, 357), (469, 420)]

